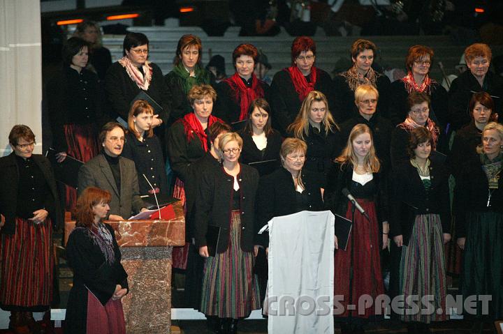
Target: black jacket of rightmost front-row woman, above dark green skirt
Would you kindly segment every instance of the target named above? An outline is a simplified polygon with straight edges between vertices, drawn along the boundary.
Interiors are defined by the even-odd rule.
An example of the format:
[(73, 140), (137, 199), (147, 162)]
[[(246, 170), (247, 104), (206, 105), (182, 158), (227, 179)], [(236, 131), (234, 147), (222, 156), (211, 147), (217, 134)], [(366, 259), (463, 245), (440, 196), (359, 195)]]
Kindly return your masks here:
[[(498, 188), (489, 190), (486, 173), (481, 162), (467, 162), (462, 175), (456, 179), (453, 212), (455, 214), (455, 229), (458, 238), (466, 236), (467, 214), (470, 212), (498, 212), (503, 213), (503, 177), (498, 181)], [(488, 206), (488, 195), (491, 191)]]

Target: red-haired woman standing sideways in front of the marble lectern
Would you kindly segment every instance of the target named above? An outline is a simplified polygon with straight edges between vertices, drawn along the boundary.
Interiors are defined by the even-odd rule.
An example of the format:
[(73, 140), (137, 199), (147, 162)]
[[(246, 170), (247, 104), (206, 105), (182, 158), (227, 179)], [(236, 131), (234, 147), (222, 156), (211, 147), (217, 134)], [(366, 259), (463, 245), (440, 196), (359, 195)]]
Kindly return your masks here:
[(66, 244), (73, 286), (64, 333), (126, 333), (121, 298), (128, 293), (128, 275), (115, 232), (103, 222), (110, 199), (110, 192), (89, 187), (75, 205), (75, 229)]

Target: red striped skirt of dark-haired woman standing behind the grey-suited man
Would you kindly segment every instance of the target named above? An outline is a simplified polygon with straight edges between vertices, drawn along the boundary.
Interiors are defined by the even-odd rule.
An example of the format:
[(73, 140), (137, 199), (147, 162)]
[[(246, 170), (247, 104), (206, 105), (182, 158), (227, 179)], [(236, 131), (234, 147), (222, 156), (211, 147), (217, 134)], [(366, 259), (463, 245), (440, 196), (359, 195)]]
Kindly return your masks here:
[[(83, 126), (76, 124), (64, 125), (64, 134), (66, 145), (68, 146), (68, 155), (88, 162), (99, 153), (99, 144), (97, 140), (96, 127), (93, 124)], [(65, 185), (65, 208), (66, 211), (72, 211), (77, 202), (77, 190), (69, 185)]]

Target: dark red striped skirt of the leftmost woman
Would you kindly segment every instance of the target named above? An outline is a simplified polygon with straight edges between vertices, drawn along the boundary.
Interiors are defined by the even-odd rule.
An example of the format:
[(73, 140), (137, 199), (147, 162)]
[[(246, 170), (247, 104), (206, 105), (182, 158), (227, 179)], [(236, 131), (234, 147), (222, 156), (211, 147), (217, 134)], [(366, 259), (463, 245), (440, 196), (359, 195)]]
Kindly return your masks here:
[(41, 312), (52, 301), (52, 222), (16, 218), (13, 235), (1, 236), (0, 307)]

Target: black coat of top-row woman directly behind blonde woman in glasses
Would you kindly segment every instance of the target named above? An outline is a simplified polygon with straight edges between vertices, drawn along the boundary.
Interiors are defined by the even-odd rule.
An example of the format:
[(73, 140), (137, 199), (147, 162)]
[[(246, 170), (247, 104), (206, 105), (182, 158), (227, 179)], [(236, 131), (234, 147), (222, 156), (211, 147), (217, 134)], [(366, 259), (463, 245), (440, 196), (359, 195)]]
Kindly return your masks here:
[[(379, 103), (377, 104), (378, 112), (386, 116), (388, 114), (390, 79), (386, 75), (376, 73), (377, 91), (379, 91)], [(333, 116), (337, 123), (345, 122), (358, 116), (358, 108), (355, 104), (354, 91), (351, 91), (347, 84), (346, 78), (341, 74), (336, 75), (333, 79), (335, 92), (335, 105), (330, 106)]]

